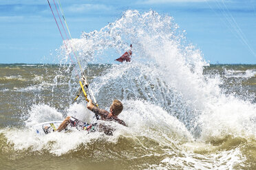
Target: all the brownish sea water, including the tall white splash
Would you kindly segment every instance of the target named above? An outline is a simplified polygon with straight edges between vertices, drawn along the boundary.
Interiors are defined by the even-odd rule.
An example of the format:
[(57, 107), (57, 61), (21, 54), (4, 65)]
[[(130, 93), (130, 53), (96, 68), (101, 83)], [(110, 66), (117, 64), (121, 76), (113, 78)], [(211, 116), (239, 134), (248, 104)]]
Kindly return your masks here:
[[(104, 64), (130, 43), (131, 62)], [(96, 121), (84, 97), (74, 102), (72, 49), (100, 108), (124, 105), (128, 127), (110, 123), (113, 136), (31, 128), (67, 115)], [(256, 65), (209, 64), (172, 17), (129, 10), (68, 40), (56, 58), (0, 64), (1, 169), (256, 169)]]

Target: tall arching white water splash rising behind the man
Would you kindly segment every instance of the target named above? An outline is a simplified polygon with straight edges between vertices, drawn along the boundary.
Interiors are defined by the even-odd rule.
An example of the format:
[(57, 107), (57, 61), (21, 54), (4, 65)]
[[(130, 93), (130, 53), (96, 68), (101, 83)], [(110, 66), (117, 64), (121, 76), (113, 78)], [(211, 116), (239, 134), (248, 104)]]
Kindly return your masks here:
[[(100, 31), (83, 33), (69, 43), (78, 49), (83, 63), (100, 58), (108, 62), (105, 54), (120, 54), (133, 44), (131, 63), (114, 64), (92, 82), (103, 106), (114, 98), (149, 101), (177, 117), (198, 137), (209, 133), (209, 128), (222, 136), (226, 126), (219, 123), (236, 134), (248, 128), (250, 134), (255, 130), (255, 123), (250, 121), (255, 105), (232, 94), (224, 95), (219, 75), (203, 74), (209, 63), (200, 50), (186, 42), (184, 31), (170, 16), (128, 10)], [(222, 114), (226, 118), (220, 119)]]

